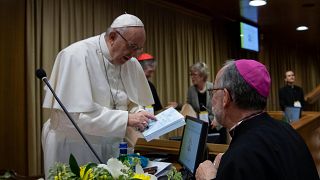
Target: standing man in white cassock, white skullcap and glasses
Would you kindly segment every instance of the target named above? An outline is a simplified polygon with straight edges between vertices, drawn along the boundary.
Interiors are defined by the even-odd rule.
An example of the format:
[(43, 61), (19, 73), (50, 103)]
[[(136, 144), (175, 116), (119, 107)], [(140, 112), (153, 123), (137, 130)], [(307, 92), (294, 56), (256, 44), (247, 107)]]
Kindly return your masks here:
[[(145, 30), (139, 18), (117, 17), (106, 33), (76, 42), (57, 56), (50, 83), (103, 162), (118, 156), (128, 127), (143, 130), (155, 117), (143, 106), (154, 104), (139, 62)], [(98, 162), (50, 91), (44, 108), (42, 146), (45, 174), (55, 162)]]

